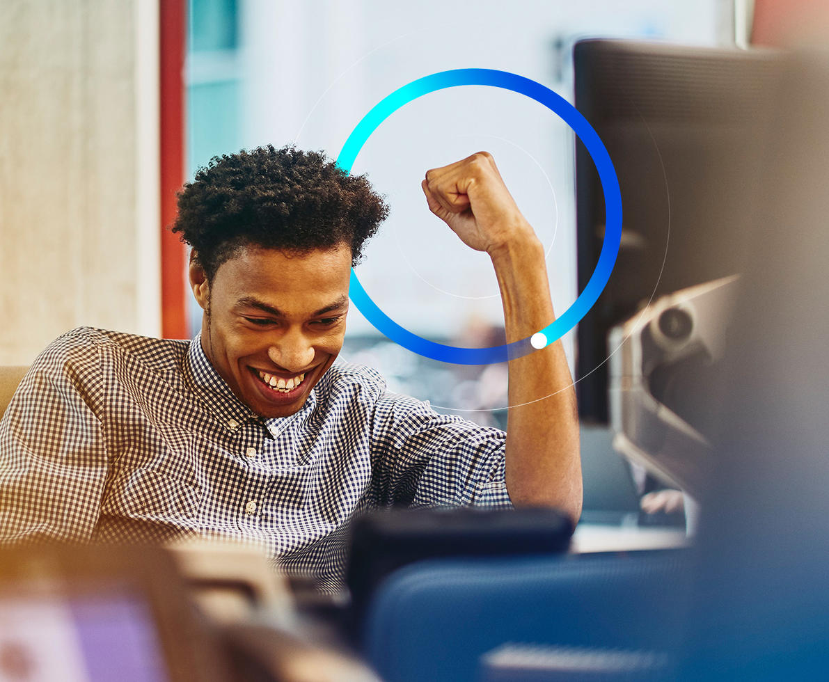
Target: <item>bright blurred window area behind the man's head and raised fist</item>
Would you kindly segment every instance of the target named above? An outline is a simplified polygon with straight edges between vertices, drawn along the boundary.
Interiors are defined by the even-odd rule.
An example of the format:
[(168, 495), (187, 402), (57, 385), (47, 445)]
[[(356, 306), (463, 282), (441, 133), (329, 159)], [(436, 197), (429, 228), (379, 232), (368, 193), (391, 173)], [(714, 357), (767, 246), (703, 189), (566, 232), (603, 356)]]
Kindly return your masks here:
[[(332, 157), (386, 94), (457, 68), (524, 75), (572, 102), (572, 46), (584, 36), (695, 45), (732, 41), (730, 2), (191, 2), (187, 43), (187, 172), (211, 156), (295, 143)], [(463, 36), (463, 39), (459, 39)], [(395, 112), (362, 148), (366, 172), (391, 206), (357, 268), (395, 322), (458, 346), (500, 343), (502, 304), (484, 254), (429, 213), (424, 172), (485, 149), (545, 244), (557, 312), (576, 291), (574, 139), (555, 114), (521, 94), (484, 86), (442, 90)], [(655, 284), (655, 283), (654, 283)], [(190, 331), (201, 323), (193, 302)], [(573, 334), (565, 337), (574, 370)], [(506, 423), (504, 368), (424, 360), (385, 340), (355, 306), (343, 356), (375, 366), (390, 389), (484, 424)]]

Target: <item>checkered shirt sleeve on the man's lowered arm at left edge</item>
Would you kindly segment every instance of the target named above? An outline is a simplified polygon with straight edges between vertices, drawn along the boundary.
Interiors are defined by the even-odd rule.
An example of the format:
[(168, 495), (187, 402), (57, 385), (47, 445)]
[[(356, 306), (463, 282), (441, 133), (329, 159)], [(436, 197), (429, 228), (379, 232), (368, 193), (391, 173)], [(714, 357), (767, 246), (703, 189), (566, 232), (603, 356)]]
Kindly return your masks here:
[(0, 421), (0, 541), (91, 538), (108, 471), (100, 365), (76, 330), (23, 378)]

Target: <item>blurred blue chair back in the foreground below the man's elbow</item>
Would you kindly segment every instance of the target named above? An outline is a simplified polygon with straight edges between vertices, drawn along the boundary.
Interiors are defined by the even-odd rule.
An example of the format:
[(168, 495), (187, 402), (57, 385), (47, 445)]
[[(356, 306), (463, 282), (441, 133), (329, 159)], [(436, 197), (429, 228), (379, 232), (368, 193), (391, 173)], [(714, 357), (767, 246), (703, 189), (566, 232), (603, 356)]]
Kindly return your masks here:
[(688, 551), (413, 563), (377, 589), (362, 648), (388, 682), (478, 680), (507, 642), (676, 651)]

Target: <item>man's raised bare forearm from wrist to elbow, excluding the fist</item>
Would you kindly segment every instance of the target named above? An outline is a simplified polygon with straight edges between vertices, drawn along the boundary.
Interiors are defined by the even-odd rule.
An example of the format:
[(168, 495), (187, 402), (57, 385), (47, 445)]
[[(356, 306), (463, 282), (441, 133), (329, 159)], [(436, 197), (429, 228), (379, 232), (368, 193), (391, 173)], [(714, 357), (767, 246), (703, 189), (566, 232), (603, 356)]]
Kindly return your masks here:
[[(541, 243), (527, 225), (490, 251), (501, 288), (507, 341), (549, 325), (554, 312)], [(579, 422), (564, 348), (556, 341), (509, 362), (507, 491), (516, 506), (581, 511)]]

